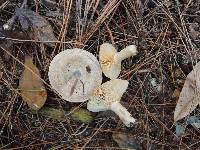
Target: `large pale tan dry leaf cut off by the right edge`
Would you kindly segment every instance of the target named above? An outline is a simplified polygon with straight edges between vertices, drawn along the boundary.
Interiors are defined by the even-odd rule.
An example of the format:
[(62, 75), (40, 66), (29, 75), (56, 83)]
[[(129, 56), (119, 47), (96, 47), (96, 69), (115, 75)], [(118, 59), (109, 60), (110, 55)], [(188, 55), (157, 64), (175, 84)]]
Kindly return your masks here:
[(200, 104), (200, 62), (188, 74), (174, 112), (174, 122), (189, 115)]

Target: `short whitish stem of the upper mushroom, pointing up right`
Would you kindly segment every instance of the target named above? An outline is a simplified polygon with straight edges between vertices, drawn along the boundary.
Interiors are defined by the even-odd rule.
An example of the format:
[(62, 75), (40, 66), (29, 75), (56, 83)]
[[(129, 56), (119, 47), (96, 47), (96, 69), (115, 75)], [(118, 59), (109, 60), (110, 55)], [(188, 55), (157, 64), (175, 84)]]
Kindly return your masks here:
[(114, 56), (115, 62), (121, 63), (122, 60), (135, 56), (137, 54), (136, 46), (130, 45), (121, 50), (120, 52), (116, 53)]

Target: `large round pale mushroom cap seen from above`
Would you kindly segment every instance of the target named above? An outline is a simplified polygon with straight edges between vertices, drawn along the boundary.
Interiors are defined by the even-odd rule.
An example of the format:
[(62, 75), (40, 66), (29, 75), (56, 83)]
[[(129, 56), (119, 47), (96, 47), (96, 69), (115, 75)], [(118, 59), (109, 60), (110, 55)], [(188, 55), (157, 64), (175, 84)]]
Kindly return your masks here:
[(86, 101), (102, 82), (96, 57), (78, 48), (57, 54), (50, 63), (48, 76), (52, 88), (70, 102)]

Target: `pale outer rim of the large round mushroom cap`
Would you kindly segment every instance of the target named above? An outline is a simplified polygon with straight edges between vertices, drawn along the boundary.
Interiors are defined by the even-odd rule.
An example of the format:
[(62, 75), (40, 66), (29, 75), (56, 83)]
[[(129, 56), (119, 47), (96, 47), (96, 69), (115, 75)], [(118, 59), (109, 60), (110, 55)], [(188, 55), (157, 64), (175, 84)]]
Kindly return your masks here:
[[(95, 89), (95, 87), (98, 87), (99, 85), (101, 85), (101, 82), (102, 82), (102, 70), (101, 70), (101, 67), (100, 67), (100, 64), (98, 62), (98, 60), (96, 59), (96, 57), (88, 52), (88, 51), (85, 51), (85, 50), (82, 50), (82, 49), (78, 49), (78, 48), (74, 48), (74, 49), (66, 49), (62, 52), (60, 52), (59, 54), (57, 54), (53, 60), (51, 61), (50, 63), (50, 66), (49, 66), (49, 72), (48, 72), (48, 77), (49, 77), (49, 81), (50, 81), (50, 84), (52, 86), (52, 88), (64, 99), (64, 100), (67, 100), (67, 101), (70, 101), (70, 102), (84, 102), (84, 101), (87, 101), (88, 100), (88, 97), (90, 96), (90, 94), (84, 96), (84, 97), (79, 97), (77, 99), (73, 98), (73, 99), (70, 99), (70, 97), (66, 96), (65, 95), (65, 92), (67, 91), (61, 91), (58, 86), (59, 84), (60, 85), (64, 85), (63, 82), (63, 78), (62, 77), (62, 71), (61, 69), (59, 68), (59, 65), (60, 65), (60, 61), (67, 61), (66, 58), (68, 58), (68, 54), (70, 54), (69, 56), (71, 55), (77, 55), (77, 56), (80, 56), (80, 57), (89, 57), (89, 61), (91, 61), (91, 65), (93, 65), (93, 67), (96, 67), (96, 73), (94, 74), (93, 77), (95, 77), (96, 79), (94, 80), (95, 82), (95, 86), (93, 86), (90, 90), (90, 93), (93, 92), (93, 90)], [(64, 57), (63, 57), (64, 56)], [(68, 57), (67, 57), (68, 56)], [(70, 59), (70, 58), (69, 58)], [(80, 61), (78, 59), (78, 61)], [(61, 74), (59, 73), (61, 72)], [(94, 84), (93, 83), (93, 84)], [(88, 89), (86, 89), (88, 90)]]

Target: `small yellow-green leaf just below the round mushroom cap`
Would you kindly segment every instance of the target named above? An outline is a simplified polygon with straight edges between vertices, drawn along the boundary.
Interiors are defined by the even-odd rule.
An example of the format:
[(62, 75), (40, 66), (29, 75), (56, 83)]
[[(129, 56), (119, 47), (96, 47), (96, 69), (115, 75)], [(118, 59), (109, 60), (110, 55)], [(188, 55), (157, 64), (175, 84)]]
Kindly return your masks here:
[(91, 123), (93, 121), (92, 114), (83, 108), (72, 108), (70, 110), (70, 117), (75, 121), (83, 123)]

